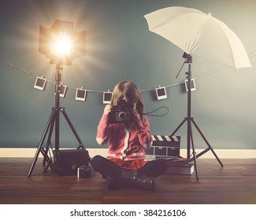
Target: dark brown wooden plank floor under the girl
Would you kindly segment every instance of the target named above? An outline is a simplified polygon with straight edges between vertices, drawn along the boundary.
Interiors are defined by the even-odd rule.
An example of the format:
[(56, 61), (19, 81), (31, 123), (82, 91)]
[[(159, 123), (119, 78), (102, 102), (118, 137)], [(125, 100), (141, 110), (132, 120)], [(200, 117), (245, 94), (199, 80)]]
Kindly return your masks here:
[(198, 159), (195, 174), (165, 174), (154, 192), (136, 189), (108, 190), (97, 173), (91, 178), (43, 174), (38, 159), (32, 177), (32, 158), (0, 158), (0, 203), (256, 203), (256, 159)]

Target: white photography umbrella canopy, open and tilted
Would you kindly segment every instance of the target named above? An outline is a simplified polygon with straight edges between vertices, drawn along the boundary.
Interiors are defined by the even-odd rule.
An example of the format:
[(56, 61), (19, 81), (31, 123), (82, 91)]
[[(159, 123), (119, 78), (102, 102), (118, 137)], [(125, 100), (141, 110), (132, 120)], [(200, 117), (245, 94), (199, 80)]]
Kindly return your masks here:
[(169, 7), (145, 15), (149, 30), (184, 52), (206, 57), (231, 68), (250, 67), (238, 36), (221, 20), (197, 9)]

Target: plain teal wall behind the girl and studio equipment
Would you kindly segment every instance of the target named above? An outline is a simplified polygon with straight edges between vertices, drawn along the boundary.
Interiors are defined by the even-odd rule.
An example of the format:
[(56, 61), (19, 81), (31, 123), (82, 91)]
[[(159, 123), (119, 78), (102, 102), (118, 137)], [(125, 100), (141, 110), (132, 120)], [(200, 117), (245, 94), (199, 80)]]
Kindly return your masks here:
[[(61, 98), (69, 118), (87, 148), (106, 148), (95, 141), (102, 116), (102, 92), (130, 80), (143, 92), (145, 111), (169, 108), (163, 117), (150, 117), (152, 134), (171, 134), (187, 114), (183, 51), (148, 31), (145, 14), (169, 6), (212, 13), (239, 36), (252, 68), (235, 70), (206, 58), (193, 57), (192, 116), (213, 148), (256, 148), (256, 1), (253, 0), (3, 0), (0, 7), (0, 147), (36, 148), (54, 106), (54, 85), (34, 89), (35, 76), (54, 82), (54, 65), (38, 52), (39, 25), (71, 20), (75, 31), (86, 30), (86, 56), (64, 66), (62, 83), (69, 87)], [(214, 42), (213, 42), (214, 44)], [(32, 75), (6, 64), (9, 62)], [(207, 74), (210, 73), (210, 74)], [(206, 74), (206, 75), (205, 75)], [(169, 86), (178, 83), (176, 86)], [(181, 83), (181, 84), (180, 84)], [(87, 101), (76, 101), (76, 88), (90, 90)], [(158, 101), (154, 89), (166, 88)], [(161, 112), (159, 112), (161, 113)], [(179, 133), (184, 147), (186, 129)], [(195, 146), (204, 142), (193, 132)], [(61, 118), (61, 147), (76, 147), (71, 130)]]

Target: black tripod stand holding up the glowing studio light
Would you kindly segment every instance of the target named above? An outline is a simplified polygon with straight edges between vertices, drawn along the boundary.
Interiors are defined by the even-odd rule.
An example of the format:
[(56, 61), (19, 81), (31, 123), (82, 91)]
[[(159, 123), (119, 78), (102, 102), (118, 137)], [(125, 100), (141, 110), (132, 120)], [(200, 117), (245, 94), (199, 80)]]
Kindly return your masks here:
[[(50, 118), (48, 119), (48, 122), (46, 123), (46, 128), (43, 131), (43, 136), (41, 140), (39, 141), (39, 146), (37, 148), (37, 151), (35, 152), (34, 159), (32, 160), (32, 165), (30, 169), (28, 170), (28, 177), (32, 175), (32, 172), (35, 167), (35, 163), (39, 157), (39, 153), (41, 152), (43, 154), (43, 164), (47, 163), (46, 168), (44, 172), (50, 167), (51, 170), (54, 169), (54, 163), (52, 161), (52, 152), (53, 148), (51, 145), (51, 136), (53, 133), (53, 130), (55, 128), (55, 150), (58, 150), (60, 147), (60, 112), (65, 117), (67, 123), (69, 123), (69, 127), (71, 128), (73, 134), (76, 137), (76, 140), (79, 143), (79, 146), (77, 148), (84, 148), (82, 141), (80, 140), (80, 137), (76, 133), (75, 127), (73, 127), (69, 116), (65, 112), (65, 108), (60, 107), (60, 93), (61, 93), (61, 64), (56, 64), (56, 75), (55, 75), (55, 107), (52, 108), (52, 112), (50, 114)], [(43, 143), (46, 139), (46, 135), (48, 134), (48, 138), (46, 141), (46, 147), (43, 147)]]

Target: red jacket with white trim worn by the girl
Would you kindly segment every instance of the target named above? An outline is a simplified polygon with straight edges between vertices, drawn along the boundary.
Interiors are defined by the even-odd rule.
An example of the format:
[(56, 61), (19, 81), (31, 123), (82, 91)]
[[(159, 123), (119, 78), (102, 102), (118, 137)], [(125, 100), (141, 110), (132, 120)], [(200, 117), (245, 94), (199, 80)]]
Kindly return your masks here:
[(126, 127), (124, 123), (109, 124), (109, 116), (103, 114), (98, 124), (96, 141), (99, 145), (105, 145), (109, 141), (108, 158), (123, 160), (143, 160), (144, 148), (152, 145), (150, 124), (148, 119), (145, 126), (141, 120)]

